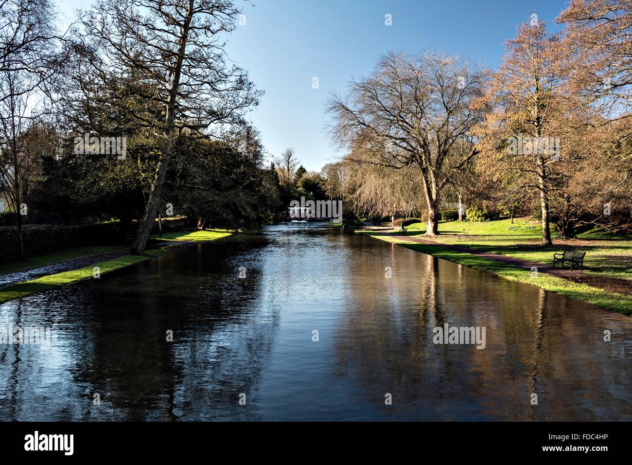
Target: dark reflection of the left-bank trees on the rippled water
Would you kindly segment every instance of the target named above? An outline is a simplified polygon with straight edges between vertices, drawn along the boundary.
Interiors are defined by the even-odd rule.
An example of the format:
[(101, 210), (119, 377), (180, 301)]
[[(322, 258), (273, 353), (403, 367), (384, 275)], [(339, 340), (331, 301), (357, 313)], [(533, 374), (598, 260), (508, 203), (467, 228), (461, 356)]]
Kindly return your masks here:
[(194, 247), (89, 287), (92, 316), (76, 322), (88, 330), (74, 376), (102, 405), (90, 404), (84, 419), (258, 419), (253, 393), (278, 323), (256, 306), (261, 239)]

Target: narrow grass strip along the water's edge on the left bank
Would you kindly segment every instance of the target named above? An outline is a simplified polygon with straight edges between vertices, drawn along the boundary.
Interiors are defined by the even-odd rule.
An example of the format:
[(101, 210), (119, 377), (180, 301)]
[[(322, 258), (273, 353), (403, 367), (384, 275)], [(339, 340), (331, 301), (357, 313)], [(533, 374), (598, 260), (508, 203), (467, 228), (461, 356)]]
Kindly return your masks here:
[(69, 284), (73, 284), (79, 281), (87, 279), (95, 279), (95, 267), (99, 268), (99, 276), (110, 271), (121, 270), (121, 268), (127, 268), (133, 264), (147, 261), (159, 256), (163, 256), (181, 249), (182, 245), (196, 245), (204, 242), (210, 242), (212, 240), (223, 239), (228, 237), (232, 233), (225, 233), (220, 237), (214, 237), (207, 240), (191, 240), (183, 244), (178, 242), (177, 244), (167, 245), (164, 249), (145, 251), (145, 255), (130, 255), (126, 254), (111, 260), (102, 261), (92, 265), (84, 266), (76, 270), (62, 271), (61, 273), (54, 273), (52, 275), (41, 276), (40, 278), (29, 280), (21, 283), (16, 283), (0, 289), (0, 304), (4, 302), (12, 301), (20, 297), (27, 295), (37, 294), (45, 290), (50, 290), (55, 287), (62, 287)]

